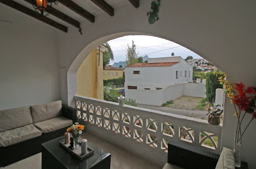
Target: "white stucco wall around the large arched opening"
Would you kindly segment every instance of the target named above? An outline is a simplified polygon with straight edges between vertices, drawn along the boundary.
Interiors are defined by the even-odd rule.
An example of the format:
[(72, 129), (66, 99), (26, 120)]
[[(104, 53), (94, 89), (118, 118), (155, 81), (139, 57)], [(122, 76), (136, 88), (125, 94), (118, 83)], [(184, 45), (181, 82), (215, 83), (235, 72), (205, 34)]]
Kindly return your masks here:
[[(256, 72), (256, 1), (195, 0), (161, 3), (160, 20), (153, 25), (148, 23), (145, 14), (150, 10), (150, 2), (142, 0), (140, 8), (135, 9), (127, 4), (115, 9), (113, 17), (104, 13), (96, 17), (94, 24), (87, 21), (82, 23), (82, 36), (73, 27), (69, 28), (69, 33), (60, 32), (62, 100), (74, 106), (75, 73), (95, 47), (107, 40), (130, 34), (148, 34), (174, 41), (226, 72), (230, 82), (242, 81), (247, 86), (256, 85), (256, 74), (253, 74)], [(241, 53), (243, 62), (240, 61)], [(234, 110), (228, 100), (225, 103), (222, 145), (232, 149), (236, 119), (232, 116)], [(256, 123), (253, 122), (243, 140), (243, 160), (249, 163), (250, 168), (256, 167), (253, 157), (256, 152), (256, 136), (250, 134), (255, 128)]]

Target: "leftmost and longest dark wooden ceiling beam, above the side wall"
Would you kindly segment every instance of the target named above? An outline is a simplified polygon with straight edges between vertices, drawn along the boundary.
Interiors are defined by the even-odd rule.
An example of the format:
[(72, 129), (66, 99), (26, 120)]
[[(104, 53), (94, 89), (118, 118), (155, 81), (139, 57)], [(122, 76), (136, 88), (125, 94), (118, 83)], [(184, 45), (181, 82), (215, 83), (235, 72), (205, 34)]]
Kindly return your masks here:
[(21, 4), (18, 4), (16, 2), (12, 1), (12, 0), (0, 0), (0, 3), (5, 4), (13, 9), (20, 11), (20, 12), (23, 12), (31, 17), (34, 17), (52, 27), (60, 29), (64, 32), (68, 32), (68, 28), (65, 27), (64, 25), (61, 25), (48, 17), (42, 16), (40, 13), (37, 13)]

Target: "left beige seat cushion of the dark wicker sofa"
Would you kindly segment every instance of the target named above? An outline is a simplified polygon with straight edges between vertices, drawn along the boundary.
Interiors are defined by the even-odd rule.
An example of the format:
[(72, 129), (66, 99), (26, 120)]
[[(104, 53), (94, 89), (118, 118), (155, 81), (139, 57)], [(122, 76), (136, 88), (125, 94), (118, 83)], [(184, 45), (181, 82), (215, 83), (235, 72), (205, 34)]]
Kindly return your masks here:
[(22, 142), (41, 135), (42, 132), (36, 129), (33, 124), (0, 132), (0, 147)]

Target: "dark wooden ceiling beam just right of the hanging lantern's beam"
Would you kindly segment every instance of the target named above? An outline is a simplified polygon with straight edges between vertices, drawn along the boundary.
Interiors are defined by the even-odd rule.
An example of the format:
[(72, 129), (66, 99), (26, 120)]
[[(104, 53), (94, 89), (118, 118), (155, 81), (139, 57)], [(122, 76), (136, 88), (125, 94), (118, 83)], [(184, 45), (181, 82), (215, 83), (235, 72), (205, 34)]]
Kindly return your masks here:
[(88, 19), (91, 23), (95, 22), (95, 16), (90, 12), (86, 11), (84, 8), (80, 7), (79, 5), (75, 4), (71, 0), (58, 0), (59, 3), (66, 6), (67, 8), (71, 9), (75, 13), (83, 16), (84, 18)]

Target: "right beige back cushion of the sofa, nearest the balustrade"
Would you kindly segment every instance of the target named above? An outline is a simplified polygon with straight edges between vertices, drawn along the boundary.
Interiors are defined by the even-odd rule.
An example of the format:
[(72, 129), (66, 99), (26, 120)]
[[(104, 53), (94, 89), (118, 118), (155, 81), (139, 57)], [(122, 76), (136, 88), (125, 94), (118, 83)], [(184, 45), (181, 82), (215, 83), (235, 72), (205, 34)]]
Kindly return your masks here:
[(62, 115), (62, 101), (54, 101), (41, 105), (32, 105), (33, 123), (48, 120)]

